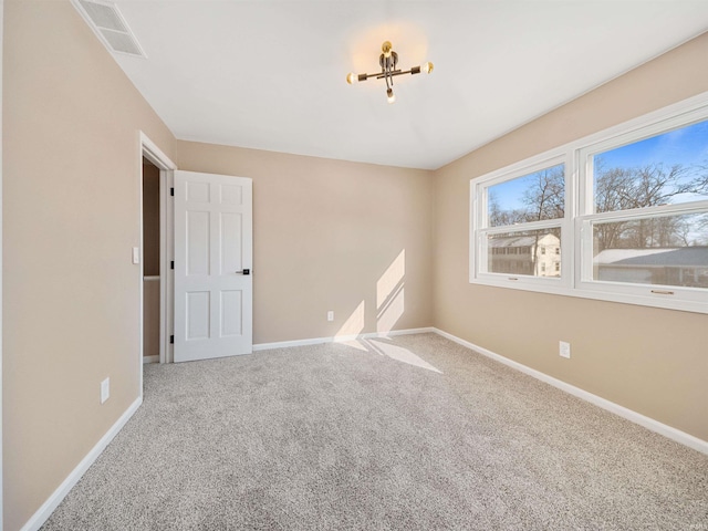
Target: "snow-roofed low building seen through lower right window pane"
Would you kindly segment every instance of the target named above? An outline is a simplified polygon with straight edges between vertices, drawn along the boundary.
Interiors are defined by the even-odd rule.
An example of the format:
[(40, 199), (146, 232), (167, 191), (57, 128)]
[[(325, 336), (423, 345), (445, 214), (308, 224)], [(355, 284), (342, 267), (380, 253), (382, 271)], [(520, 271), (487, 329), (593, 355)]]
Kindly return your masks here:
[(605, 249), (593, 269), (597, 280), (708, 288), (708, 247)]

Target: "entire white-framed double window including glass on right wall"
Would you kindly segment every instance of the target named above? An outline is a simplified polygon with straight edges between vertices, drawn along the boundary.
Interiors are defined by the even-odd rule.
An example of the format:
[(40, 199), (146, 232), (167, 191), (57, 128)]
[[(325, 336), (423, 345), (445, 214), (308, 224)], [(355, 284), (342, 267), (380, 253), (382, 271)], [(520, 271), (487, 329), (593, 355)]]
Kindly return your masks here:
[(708, 313), (707, 95), (470, 186), (470, 282)]

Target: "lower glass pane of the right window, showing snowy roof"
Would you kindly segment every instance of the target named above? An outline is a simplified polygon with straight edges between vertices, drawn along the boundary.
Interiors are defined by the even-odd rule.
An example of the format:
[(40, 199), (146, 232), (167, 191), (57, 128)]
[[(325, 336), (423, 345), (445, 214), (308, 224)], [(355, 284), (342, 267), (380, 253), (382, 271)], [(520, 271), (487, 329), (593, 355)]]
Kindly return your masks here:
[(593, 279), (708, 288), (708, 212), (594, 223)]

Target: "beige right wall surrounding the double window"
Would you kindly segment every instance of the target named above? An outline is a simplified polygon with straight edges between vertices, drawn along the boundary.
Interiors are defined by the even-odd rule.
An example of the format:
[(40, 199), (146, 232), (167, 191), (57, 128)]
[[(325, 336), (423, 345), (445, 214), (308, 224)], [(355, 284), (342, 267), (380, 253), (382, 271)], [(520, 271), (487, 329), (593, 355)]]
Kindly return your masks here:
[[(708, 315), (469, 284), (469, 180), (708, 91), (708, 34), (436, 173), (435, 324), (708, 440)], [(572, 344), (571, 360), (558, 354)]]

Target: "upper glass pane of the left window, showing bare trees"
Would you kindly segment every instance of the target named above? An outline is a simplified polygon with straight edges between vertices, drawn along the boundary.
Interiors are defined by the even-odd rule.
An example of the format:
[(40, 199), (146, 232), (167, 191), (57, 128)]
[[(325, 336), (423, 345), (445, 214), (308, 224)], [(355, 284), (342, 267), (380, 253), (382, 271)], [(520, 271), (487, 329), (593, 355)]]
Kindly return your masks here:
[(487, 198), (488, 227), (562, 218), (565, 206), (564, 165), (490, 186)]

